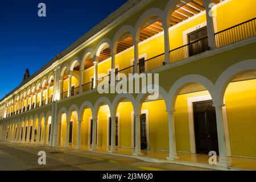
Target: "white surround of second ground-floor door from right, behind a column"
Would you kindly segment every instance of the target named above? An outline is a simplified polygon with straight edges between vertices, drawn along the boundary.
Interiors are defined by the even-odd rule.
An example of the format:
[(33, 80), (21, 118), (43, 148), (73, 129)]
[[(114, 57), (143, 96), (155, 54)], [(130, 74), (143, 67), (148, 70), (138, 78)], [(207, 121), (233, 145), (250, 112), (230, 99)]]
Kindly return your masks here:
[[(150, 150), (150, 134), (149, 134), (149, 119), (148, 109), (142, 110), (141, 114), (146, 114), (146, 130), (147, 130), (147, 150)], [(131, 147), (134, 148), (134, 111), (131, 111)]]

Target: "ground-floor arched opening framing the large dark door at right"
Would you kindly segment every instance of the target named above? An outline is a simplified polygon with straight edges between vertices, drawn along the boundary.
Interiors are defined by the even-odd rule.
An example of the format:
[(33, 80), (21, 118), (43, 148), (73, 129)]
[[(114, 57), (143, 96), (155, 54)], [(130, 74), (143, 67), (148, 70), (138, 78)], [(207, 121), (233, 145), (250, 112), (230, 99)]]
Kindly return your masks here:
[(180, 152), (180, 158), (186, 157), (186, 152), (208, 155), (210, 151), (215, 151), (219, 154), (216, 110), (210, 94), (213, 90), (208, 90), (206, 86), (209, 85), (204, 86), (196, 80), (184, 81), (178, 89), (172, 90), (174, 97), (171, 103), (175, 105), (171, 110), (174, 115), (174, 146)]

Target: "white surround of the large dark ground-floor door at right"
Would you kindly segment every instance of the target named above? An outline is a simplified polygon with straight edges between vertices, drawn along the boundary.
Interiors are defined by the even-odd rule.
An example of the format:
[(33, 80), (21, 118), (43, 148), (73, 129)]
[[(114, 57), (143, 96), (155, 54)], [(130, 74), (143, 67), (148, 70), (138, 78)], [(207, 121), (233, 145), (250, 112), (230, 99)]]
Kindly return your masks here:
[[(193, 102), (208, 101), (208, 100), (212, 100), (212, 96), (204, 95), (204, 96), (190, 97), (187, 99), (189, 139), (190, 139), (190, 148), (191, 148), (192, 154), (196, 154), (196, 141), (195, 141), (194, 118), (193, 118)], [(224, 117), (224, 130), (225, 130), (225, 134), (226, 134), (226, 145), (227, 145), (227, 150), (228, 150), (228, 156), (230, 156), (231, 152), (230, 152), (229, 131), (228, 131), (228, 127), (227, 127), (228, 118), (227, 118), (227, 114), (226, 114), (226, 106), (223, 109), (223, 117)]]

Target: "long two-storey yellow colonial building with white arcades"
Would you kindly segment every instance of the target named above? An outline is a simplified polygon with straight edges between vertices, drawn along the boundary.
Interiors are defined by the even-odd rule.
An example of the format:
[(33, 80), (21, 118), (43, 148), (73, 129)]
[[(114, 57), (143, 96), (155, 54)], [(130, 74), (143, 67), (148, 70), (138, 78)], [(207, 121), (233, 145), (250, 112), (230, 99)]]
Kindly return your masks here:
[[(0, 101), (1, 140), (171, 162), (208, 163), (215, 151), (220, 167), (255, 162), (255, 7), (127, 1)], [(129, 82), (119, 73), (159, 73), (159, 97), (100, 94), (101, 73), (114, 78), (107, 89)]]

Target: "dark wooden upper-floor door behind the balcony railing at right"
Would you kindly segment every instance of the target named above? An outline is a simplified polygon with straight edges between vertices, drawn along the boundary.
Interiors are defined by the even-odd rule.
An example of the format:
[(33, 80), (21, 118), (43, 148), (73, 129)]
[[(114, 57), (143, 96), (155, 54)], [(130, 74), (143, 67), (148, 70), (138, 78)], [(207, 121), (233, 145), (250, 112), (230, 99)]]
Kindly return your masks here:
[(197, 55), (209, 50), (207, 39), (207, 27), (200, 28), (188, 34), (189, 56)]

